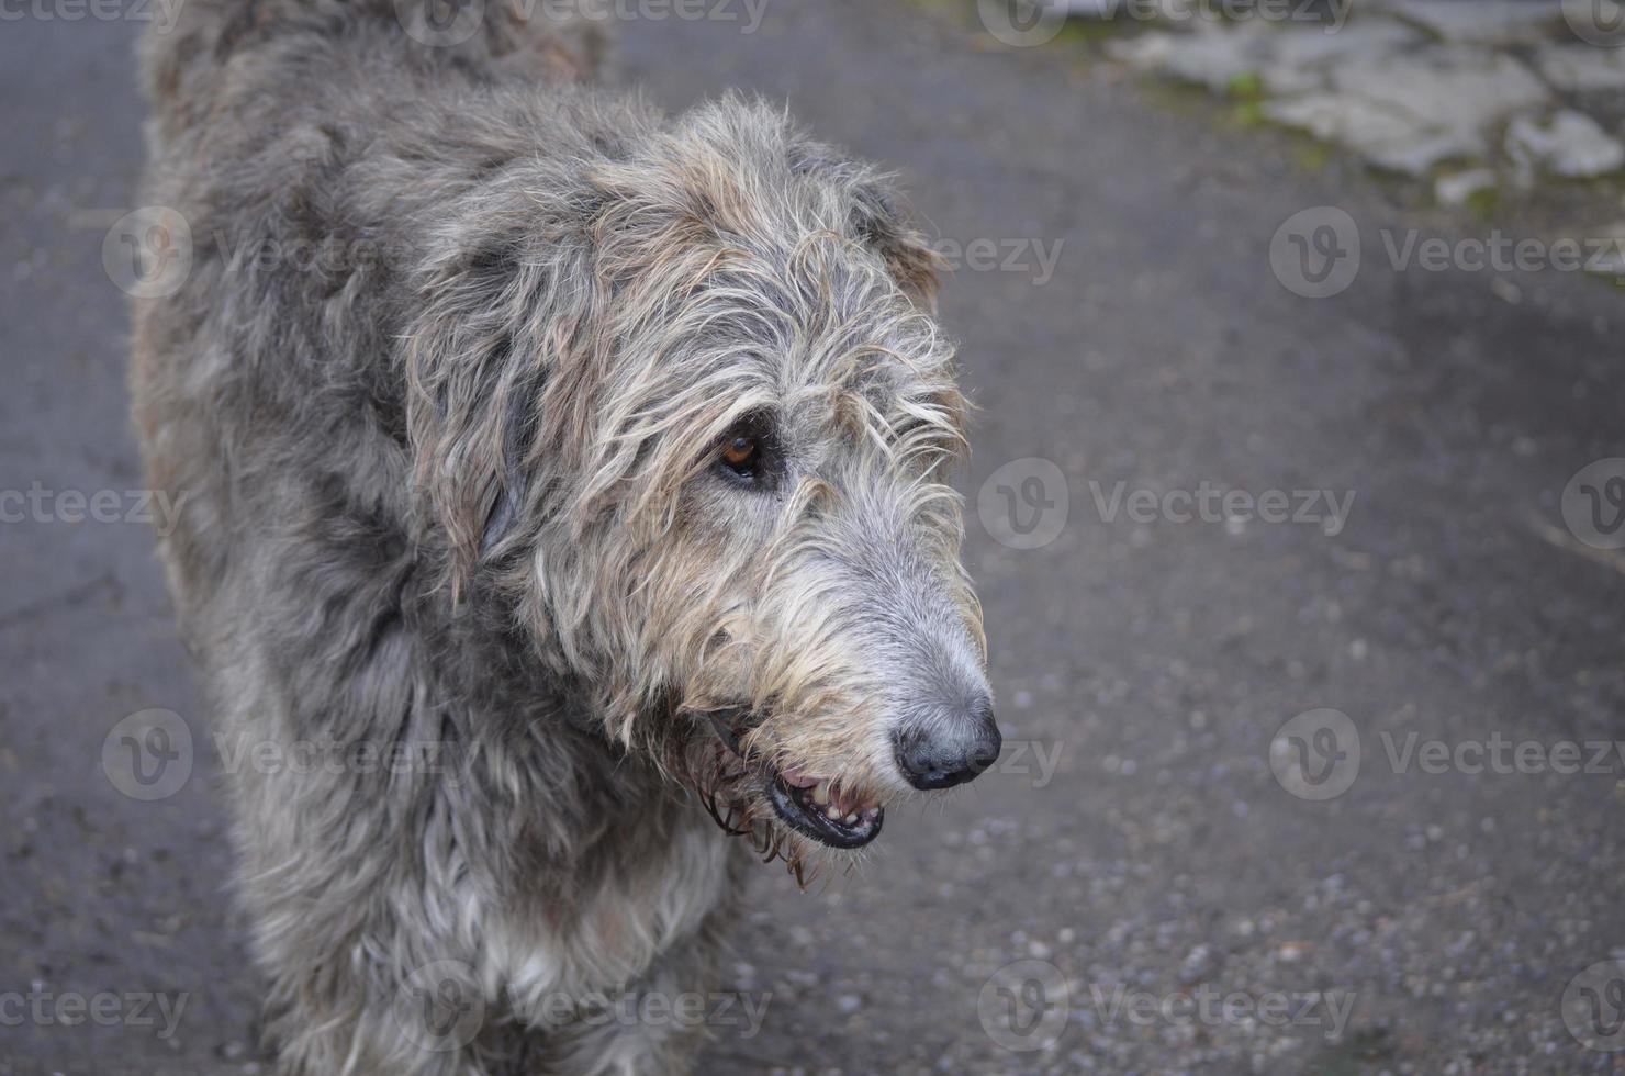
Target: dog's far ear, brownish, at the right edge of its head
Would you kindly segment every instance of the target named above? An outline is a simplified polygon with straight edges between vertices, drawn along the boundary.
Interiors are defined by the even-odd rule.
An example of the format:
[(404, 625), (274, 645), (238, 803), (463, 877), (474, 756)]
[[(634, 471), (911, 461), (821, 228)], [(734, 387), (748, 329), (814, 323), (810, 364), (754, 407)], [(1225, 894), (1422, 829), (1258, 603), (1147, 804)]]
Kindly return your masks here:
[(915, 306), (936, 309), (939, 276), (947, 271), (947, 262), (913, 226), (889, 176), (816, 141), (795, 145), (790, 166), (793, 172), (835, 184), (848, 205), (848, 234), (881, 255)]

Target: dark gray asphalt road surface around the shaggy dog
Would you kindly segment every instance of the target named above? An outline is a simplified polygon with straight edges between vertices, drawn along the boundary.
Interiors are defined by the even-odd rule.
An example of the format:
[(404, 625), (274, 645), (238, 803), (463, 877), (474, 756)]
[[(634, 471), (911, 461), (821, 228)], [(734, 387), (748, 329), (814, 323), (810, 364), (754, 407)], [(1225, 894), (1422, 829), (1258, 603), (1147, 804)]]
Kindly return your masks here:
[[(102, 237), (133, 208), (136, 29), (0, 28), (0, 488), (120, 491), (120, 515), (140, 479)], [(946, 245), (996, 244), (942, 312), (980, 405), (968, 562), (1011, 749), (850, 878), (796, 896), (760, 871), (728, 987), (765, 1016), (722, 1014), (704, 1071), (1618, 1068), (1576, 1032), (1615, 1029), (1625, 970), (1570, 983), (1625, 957), (1625, 772), (1589, 748), (1558, 772), (1625, 702), (1625, 559), (1562, 512), (1580, 468), (1625, 457), (1618, 294), (1399, 268), (1407, 229), (1487, 231), (1064, 50), (856, 0), (777, 0), (739, 31), (634, 20), (621, 76), (671, 107), (785, 98), (892, 163)], [(1326, 299), (1271, 270), (1313, 206), (1363, 241)], [(1060, 481), (999, 471), (1032, 458)], [(1162, 499), (1209, 488), (1315, 520)], [(148, 530), (47, 504), (0, 523), (0, 1074), (263, 1069), (208, 714)], [(200, 730), (198, 764), (143, 803), (102, 744), (150, 707)], [(1328, 709), (1347, 722), (1276, 743)], [(99, 993), (106, 1019), (63, 1019)], [(143, 995), (185, 995), (174, 1027)]]

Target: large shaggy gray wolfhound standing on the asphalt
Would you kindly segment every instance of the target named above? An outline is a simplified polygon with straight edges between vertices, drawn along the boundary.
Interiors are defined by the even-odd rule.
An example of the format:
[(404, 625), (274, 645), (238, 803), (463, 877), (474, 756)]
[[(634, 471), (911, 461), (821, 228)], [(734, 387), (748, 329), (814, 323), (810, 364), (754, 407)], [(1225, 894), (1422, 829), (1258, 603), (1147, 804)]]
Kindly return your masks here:
[(577, 85), (587, 20), (398, 7), (190, 0), (143, 52), (192, 267), (135, 414), (268, 1039), (682, 1071), (702, 1032), (583, 998), (708, 990), (751, 844), (804, 883), (998, 754), (936, 260), (775, 109)]

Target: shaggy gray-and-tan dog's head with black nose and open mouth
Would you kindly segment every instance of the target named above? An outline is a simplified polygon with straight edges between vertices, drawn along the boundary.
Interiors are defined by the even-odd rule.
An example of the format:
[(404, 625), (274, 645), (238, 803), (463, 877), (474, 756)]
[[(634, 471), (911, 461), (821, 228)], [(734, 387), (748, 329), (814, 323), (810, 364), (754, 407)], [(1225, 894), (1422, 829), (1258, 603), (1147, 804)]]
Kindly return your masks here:
[(965, 401), (887, 182), (730, 99), (510, 185), (410, 348), (453, 585), (793, 863), (982, 772)]

